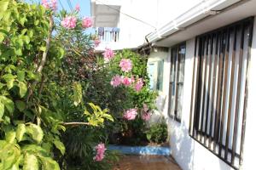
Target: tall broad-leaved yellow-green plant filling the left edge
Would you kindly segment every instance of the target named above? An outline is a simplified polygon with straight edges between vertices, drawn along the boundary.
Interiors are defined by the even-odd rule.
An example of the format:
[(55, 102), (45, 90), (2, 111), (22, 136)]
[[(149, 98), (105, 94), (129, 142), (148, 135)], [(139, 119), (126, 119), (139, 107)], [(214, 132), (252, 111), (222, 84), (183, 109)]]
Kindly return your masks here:
[[(15, 0), (0, 8), (0, 169), (60, 169), (55, 160), (65, 154), (66, 127), (102, 126), (112, 117), (92, 104), (84, 114), (90, 107), (79, 82), (52, 77), (68, 54), (52, 36), (54, 11)], [(81, 122), (65, 122), (66, 109)]]

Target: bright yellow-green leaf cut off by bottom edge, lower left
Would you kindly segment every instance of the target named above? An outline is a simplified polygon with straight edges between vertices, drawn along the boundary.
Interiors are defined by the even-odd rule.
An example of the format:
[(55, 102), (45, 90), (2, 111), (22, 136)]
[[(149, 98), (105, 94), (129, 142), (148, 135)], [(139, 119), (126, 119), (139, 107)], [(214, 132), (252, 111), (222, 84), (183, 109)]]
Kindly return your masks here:
[(26, 153), (24, 157), (23, 170), (38, 170), (38, 158), (32, 154)]

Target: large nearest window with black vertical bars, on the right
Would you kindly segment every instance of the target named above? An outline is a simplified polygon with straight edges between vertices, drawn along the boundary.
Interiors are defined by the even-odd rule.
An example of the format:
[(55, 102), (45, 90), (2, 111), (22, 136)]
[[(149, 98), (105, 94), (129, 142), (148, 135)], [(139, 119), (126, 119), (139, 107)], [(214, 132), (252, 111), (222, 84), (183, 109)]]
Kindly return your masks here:
[(238, 168), (247, 107), (253, 18), (196, 37), (189, 134)]

